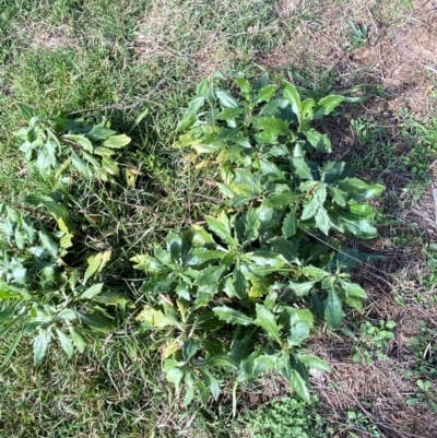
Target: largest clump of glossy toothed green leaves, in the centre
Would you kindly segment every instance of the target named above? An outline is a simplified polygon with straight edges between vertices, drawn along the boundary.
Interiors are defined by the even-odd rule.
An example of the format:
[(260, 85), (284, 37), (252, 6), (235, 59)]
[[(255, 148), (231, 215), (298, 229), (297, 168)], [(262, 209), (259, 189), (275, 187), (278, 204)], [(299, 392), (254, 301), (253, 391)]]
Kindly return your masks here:
[(344, 306), (361, 311), (366, 298), (344, 272), (356, 257), (334, 233), (375, 237), (365, 201), (383, 188), (345, 163), (310, 159), (331, 151), (316, 127), (342, 96), (302, 102), (293, 84), (280, 90), (268, 75), (236, 84), (234, 96), (221, 81), (201, 82), (179, 123), (187, 132), (177, 144), (206, 155), (201, 167), (218, 165), (226, 200), (205, 227), (169, 233), (166, 249), (132, 259), (147, 274), (150, 305), (138, 320), (185, 405), (196, 394), (217, 399), (224, 372), (235, 377), (235, 401), (241, 382), (270, 370), (309, 402), (308, 368), (328, 370), (303, 348), (315, 317), (338, 329)]

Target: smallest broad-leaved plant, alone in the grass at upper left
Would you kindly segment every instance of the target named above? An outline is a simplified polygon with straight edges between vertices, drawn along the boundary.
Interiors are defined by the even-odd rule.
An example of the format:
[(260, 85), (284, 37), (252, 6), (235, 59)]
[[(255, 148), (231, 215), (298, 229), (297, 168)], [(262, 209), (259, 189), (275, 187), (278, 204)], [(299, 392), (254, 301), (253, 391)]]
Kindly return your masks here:
[(111, 130), (108, 120), (95, 125), (68, 118), (63, 113), (49, 118), (19, 106), (29, 125), (15, 135), (23, 140), (20, 150), (38, 173), (49, 176), (56, 170), (57, 179), (66, 173), (79, 173), (103, 181), (120, 176), (119, 151), (131, 139)]

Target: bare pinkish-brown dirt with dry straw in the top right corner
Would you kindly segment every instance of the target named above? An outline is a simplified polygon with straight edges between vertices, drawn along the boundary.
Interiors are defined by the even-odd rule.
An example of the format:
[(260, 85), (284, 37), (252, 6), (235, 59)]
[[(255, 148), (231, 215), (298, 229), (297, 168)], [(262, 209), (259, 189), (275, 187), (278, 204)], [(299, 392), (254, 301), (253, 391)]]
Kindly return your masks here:
[[(386, 110), (408, 107), (417, 116), (428, 114), (437, 78), (437, 3), (413, 1), (406, 10), (390, 5), (395, 16), (374, 7), (370, 1), (359, 5), (277, 1), (276, 11), (292, 29), (291, 43), (259, 54), (258, 61), (269, 69), (334, 70), (344, 87), (357, 83), (382, 87)], [(363, 47), (354, 47), (350, 22), (367, 25)]]

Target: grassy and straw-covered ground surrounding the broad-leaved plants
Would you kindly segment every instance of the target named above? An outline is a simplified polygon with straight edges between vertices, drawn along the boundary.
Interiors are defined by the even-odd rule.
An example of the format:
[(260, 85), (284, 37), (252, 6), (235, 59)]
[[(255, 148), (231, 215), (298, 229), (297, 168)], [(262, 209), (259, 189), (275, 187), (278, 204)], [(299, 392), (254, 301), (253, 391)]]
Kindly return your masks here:
[[(366, 25), (368, 35), (354, 42), (349, 22)], [(200, 79), (217, 69), (291, 79), (297, 69), (321, 92), (370, 95), (345, 107), (328, 132), (334, 154), (387, 186), (377, 205), (380, 238), (366, 244), (386, 259), (359, 265), (355, 277), (369, 293), (373, 325), (397, 325), (387, 342), (375, 339), (379, 329), (366, 333), (357, 316), (349, 332), (320, 332), (311, 347), (332, 371), (314, 376), (314, 387), (331, 436), (434, 437), (436, 412), (406, 401), (417, 393), (423, 371), (415, 370), (435, 364), (437, 348), (436, 47), (436, 1), (0, 0), (0, 197), (40, 185), (26, 178), (16, 152), (16, 103), (105, 115), (119, 129), (149, 108), (129, 157), (146, 178), (121, 203), (106, 191), (87, 200), (108, 221), (123, 215), (127, 252), (139, 241), (147, 248), (168, 228), (196, 222), (217, 196), (209, 176), (187, 169), (172, 147), (175, 121)], [(39, 369), (23, 345), (0, 371), (0, 436), (236, 436), (226, 401), (199, 412), (168, 402), (142, 342), (120, 334), (70, 363), (55, 354)], [(284, 391), (280, 381), (248, 388), (241, 410)]]

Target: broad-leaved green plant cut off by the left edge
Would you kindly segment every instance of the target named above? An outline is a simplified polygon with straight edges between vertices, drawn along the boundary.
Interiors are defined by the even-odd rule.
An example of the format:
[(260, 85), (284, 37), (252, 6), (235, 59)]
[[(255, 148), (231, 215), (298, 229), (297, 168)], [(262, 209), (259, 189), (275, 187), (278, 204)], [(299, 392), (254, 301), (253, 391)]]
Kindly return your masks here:
[(131, 306), (101, 281), (110, 248), (84, 254), (76, 221), (58, 192), (0, 206), (0, 336), (15, 331), (3, 365), (23, 338), (33, 338), (35, 365), (54, 339), (69, 357), (83, 352), (87, 334), (116, 328), (115, 307)]

